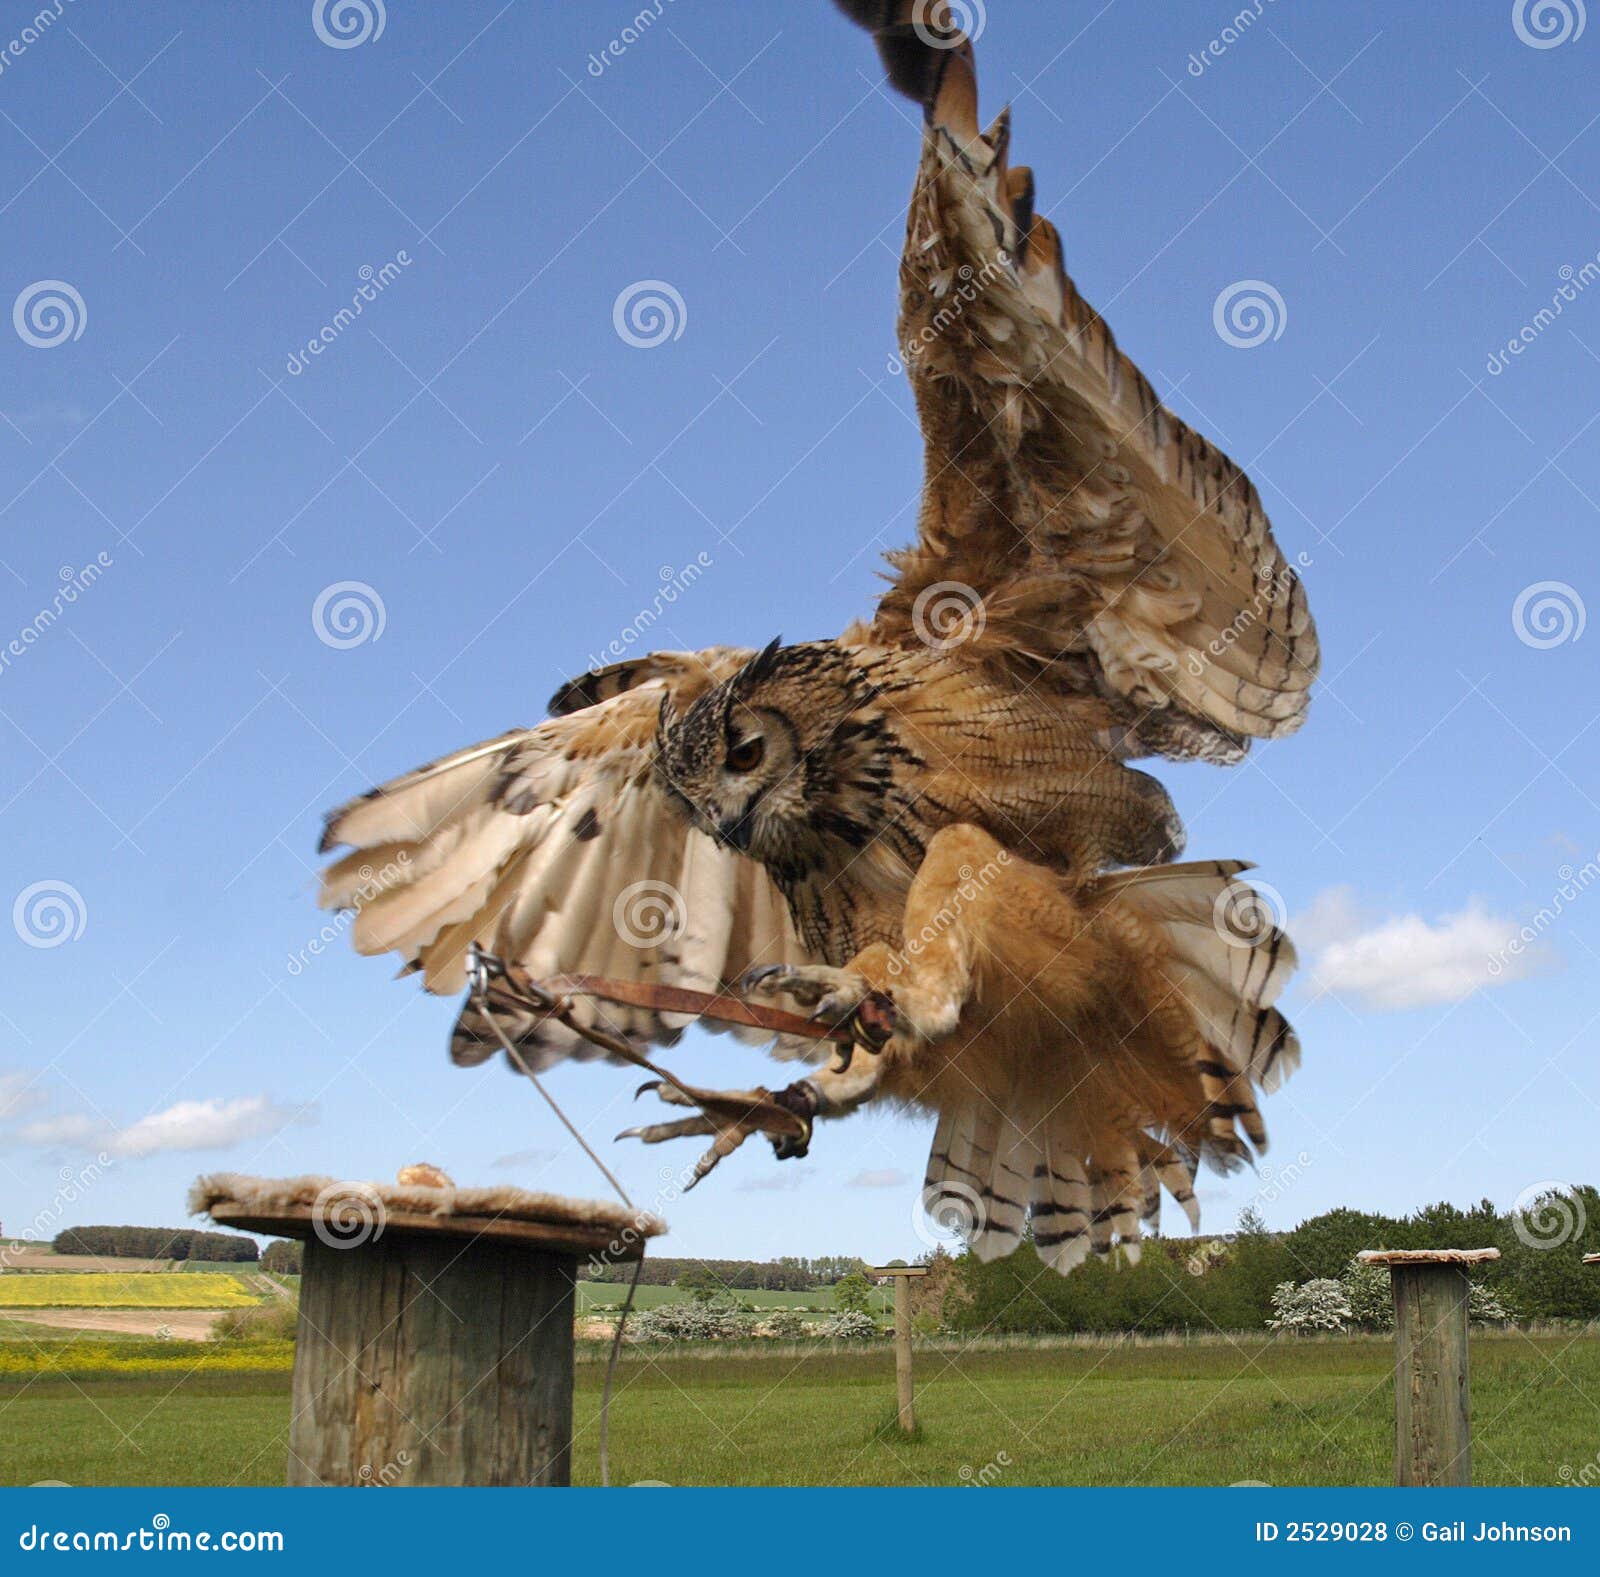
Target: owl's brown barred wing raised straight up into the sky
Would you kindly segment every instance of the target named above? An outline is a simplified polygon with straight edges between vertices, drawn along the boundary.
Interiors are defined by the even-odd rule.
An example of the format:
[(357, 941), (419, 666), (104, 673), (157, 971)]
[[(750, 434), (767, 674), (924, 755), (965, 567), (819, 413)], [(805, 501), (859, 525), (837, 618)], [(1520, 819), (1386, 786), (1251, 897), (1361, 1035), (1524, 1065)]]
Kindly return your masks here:
[(899, 336), (926, 480), (874, 635), (970, 637), (963, 656), (1018, 683), (1099, 694), (1128, 755), (1237, 760), (1291, 733), (1317, 637), (1250, 478), (1078, 296), (1010, 162), (1010, 112), (979, 133), (944, 0), (838, 3), (925, 107)]

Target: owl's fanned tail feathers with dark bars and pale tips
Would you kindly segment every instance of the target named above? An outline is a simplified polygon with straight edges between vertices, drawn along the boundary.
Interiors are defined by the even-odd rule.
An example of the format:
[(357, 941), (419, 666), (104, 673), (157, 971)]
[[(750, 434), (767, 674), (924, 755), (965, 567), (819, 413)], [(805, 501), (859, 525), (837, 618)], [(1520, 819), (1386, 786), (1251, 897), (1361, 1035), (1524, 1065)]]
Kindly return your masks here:
[[(1126, 1067), (1118, 1048), (1101, 1048), (1083, 1088), (1053, 1091), (1043, 1108), (1022, 1091), (1005, 1110), (978, 1097), (941, 1112), (923, 1208), (979, 1259), (1013, 1252), (1030, 1224), (1038, 1257), (1062, 1275), (1114, 1248), (1136, 1260), (1163, 1188), (1198, 1227), (1200, 1161), (1226, 1171), (1266, 1148), (1256, 1091), (1299, 1065), (1299, 1041), (1272, 1006), (1294, 947), (1269, 894), (1238, 880), (1248, 868), (1150, 865), (1091, 889), (1091, 916), (1098, 902), (1147, 961), (1158, 1001), (1136, 1014)], [(1139, 1033), (1146, 1025), (1157, 1033)]]

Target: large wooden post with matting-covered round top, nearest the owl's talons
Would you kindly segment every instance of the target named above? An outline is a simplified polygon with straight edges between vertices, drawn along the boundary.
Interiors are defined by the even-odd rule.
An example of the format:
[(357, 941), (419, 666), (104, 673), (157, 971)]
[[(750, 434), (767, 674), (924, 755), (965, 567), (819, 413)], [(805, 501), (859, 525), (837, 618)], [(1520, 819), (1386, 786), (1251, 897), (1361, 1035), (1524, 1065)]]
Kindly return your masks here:
[(661, 1222), (326, 1179), (202, 1179), (197, 1200), (221, 1225), (306, 1241), (290, 1484), (571, 1483), (579, 1260), (637, 1260)]

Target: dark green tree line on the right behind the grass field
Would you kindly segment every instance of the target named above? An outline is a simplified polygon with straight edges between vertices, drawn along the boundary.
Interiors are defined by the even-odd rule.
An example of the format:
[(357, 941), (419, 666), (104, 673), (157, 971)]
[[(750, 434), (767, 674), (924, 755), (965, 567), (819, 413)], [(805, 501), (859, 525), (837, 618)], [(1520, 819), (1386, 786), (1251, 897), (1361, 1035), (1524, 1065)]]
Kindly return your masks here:
[[(1336, 1209), (1270, 1233), (1245, 1211), (1219, 1238), (1150, 1238), (1138, 1265), (1122, 1256), (1091, 1259), (1070, 1276), (1040, 1264), (1026, 1243), (1006, 1259), (973, 1254), (952, 1267), (936, 1312), (957, 1331), (1259, 1331), (1280, 1308), (1285, 1284), (1349, 1283), (1362, 1249), (1498, 1248), (1499, 1260), (1475, 1272), (1493, 1300), (1518, 1321), (1600, 1319), (1600, 1190), (1552, 1190), (1520, 1212), (1493, 1203), (1461, 1209), (1430, 1204), (1411, 1216)], [(1282, 1294), (1280, 1294), (1282, 1302)]]

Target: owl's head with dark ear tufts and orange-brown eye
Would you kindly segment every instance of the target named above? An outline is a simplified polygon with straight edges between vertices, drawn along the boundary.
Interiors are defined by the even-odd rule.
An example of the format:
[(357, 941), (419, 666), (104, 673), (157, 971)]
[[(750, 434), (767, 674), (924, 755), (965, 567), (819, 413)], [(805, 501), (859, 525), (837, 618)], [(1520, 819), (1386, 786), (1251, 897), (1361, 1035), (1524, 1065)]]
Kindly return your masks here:
[(888, 816), (904, 752), (877, 697), (832, 641), (773, 641), (685, 712), (662, 707), (656, 773), (720, 844), (802, 873)]

